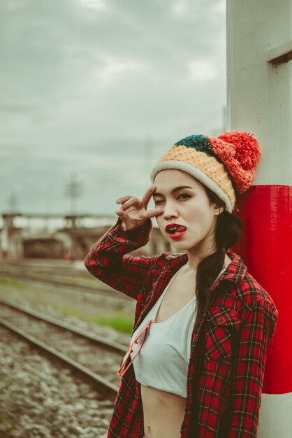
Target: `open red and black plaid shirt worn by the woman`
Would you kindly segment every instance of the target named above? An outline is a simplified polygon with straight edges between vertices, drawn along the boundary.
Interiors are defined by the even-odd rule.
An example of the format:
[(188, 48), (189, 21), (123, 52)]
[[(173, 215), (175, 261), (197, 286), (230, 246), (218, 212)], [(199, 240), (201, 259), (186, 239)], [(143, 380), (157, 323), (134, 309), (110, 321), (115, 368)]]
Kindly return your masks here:
[[(136, 299), (135, 331), (188, 257), (126, 255), (147, 243), (152, 222), (127, 233), (120, 222), (92, 248), (85, 266)], [(267, 347), (278, 311), (240, 257), (231, 250), (228, 256), (232, 262), (210, 288), (214, 298), (193, 332), (181, 438), (256, 437)], [(108, 438), (143, 438), (143, 433), (140, 384), (131, 365), (122, 377)]]

